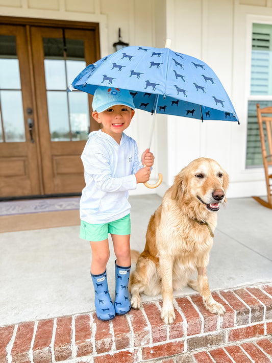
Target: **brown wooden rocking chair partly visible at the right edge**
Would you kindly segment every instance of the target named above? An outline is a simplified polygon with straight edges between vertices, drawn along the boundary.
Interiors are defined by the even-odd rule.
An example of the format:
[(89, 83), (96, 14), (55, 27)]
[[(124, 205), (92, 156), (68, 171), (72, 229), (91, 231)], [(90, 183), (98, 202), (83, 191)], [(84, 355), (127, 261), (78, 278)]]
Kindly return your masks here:
[[(272, 107), (260, 108), (257, 104), (257, 117), (260, 130), (261, 147), (262, 147), (262, 158), (265, 173), (265, 182), (267, 188), (267, 201), (264, 201), (260, 197), (253, 197), (264, 207), (272, 209), (271, 203), (271, 187), (269, 181), (272, 180), (272, 174), (268, 174), (268, 166), (272, 165)], [(266, 135), (264, 133), (263, 124), (265, 124)]]

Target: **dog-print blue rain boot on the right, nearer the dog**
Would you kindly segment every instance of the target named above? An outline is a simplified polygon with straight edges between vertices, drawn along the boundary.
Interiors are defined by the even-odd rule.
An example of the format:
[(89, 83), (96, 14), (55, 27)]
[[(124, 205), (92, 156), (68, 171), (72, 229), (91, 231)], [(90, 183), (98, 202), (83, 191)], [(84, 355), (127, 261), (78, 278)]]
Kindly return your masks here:
[(130, 311), (129, 278), (130, 268), (121, 267), (115, 261), (115, 312), (116, 315), (123, 315)]

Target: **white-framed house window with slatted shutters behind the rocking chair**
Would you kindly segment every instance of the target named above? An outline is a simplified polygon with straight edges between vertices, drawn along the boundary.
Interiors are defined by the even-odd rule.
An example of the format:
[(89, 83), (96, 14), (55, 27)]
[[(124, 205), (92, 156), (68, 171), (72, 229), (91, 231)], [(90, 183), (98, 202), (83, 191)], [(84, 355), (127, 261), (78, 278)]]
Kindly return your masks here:
[(246, 167), (262, 165), (256, 103), (259, 103), (261, 108), (272, 106), (272, 25), (270, 24), (254, 23), (252, 27)]

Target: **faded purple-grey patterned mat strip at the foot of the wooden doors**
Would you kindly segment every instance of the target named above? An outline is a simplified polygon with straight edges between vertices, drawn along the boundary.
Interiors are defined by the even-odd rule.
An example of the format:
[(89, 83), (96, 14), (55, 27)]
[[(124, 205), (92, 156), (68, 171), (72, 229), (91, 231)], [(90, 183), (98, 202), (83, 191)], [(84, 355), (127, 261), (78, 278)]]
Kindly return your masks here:
[(0, 216), (79, 210), (80, 197), (48, 198), (0, 202)]

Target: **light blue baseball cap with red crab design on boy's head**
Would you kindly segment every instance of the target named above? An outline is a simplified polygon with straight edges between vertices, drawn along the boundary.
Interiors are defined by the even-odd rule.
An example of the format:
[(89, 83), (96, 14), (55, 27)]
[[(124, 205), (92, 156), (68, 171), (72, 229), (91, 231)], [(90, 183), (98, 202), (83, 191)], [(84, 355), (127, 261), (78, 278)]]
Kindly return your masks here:
[(128, 106), (134, 110), (135, 106), (130, 91), (102, 86), (96, 88), (92, 101), (93, 111), (103, 112), (115, 105)]

